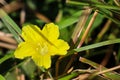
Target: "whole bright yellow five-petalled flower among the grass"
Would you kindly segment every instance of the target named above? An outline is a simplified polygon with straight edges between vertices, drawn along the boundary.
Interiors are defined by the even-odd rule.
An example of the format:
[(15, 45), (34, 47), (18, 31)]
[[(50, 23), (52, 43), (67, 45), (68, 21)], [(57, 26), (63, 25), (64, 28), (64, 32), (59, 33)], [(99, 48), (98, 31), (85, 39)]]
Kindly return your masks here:
[(24, 26), (22, 37), (24, 42), (18, 45), (15, 57), (31, 57), (38, 66), (46, 69), (51, 66), (51, 56), (65, 55), (69, 49), (67, 42), (58, 39), (59, 28), (53, 23), (46, 24), (42, 30), (36, 25)]

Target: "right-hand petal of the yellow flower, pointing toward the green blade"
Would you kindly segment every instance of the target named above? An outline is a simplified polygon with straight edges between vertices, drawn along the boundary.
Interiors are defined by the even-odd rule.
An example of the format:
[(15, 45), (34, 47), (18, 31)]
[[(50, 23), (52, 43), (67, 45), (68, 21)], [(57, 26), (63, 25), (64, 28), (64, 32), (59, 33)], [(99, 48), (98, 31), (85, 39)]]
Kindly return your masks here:
[(58, 39), (54, 42), (55, 46), (49, 46), (51, 55), (65, 55), (70, 48), (68, 43), (64, 40)]

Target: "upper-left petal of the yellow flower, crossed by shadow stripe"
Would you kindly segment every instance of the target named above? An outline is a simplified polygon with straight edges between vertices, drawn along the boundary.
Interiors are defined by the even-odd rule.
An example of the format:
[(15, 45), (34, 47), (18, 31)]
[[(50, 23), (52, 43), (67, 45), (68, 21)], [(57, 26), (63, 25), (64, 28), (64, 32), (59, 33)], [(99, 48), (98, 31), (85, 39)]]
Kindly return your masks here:
[(22, 37), (27, 42), (38, 43), (38, 42), (40, 42), (42, 40), (42, 38), (41, 38), (40, 34), (38, 33), (38, 31), (41, 32), (40, 28), (37, 27), (36, 25), (24, 26), (22, 28)]

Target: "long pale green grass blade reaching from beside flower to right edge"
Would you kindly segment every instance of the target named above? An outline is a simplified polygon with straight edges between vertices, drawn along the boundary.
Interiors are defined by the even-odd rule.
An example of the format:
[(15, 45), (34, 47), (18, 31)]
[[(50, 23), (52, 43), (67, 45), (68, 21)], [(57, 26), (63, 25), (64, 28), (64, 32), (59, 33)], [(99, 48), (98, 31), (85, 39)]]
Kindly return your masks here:
[(88, 49), (98, 48), (101, 46), (106, 46), (106, 45), (115, 44), (115, 43), (120, 43), (120, 39), (108, 40), (108, 41), (103, 41), (103, 42), (87, 45), (87, 46), (84, 46), (78, 49), (74, 49), (74, 51), (81, 52), (81, 51), (85, 51)]

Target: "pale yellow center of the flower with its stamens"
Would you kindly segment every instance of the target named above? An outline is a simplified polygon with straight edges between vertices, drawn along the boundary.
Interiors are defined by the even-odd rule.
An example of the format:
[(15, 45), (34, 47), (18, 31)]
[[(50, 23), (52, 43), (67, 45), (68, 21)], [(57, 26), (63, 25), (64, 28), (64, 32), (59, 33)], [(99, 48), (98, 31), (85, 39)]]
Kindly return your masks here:
[(41, 55), (45, 55), (46, 53), (48, 53), (48, 47), (45, 43), (43, 43), (42, 45), (39, 43), (36, 50), (41, 54)]

